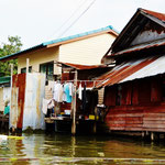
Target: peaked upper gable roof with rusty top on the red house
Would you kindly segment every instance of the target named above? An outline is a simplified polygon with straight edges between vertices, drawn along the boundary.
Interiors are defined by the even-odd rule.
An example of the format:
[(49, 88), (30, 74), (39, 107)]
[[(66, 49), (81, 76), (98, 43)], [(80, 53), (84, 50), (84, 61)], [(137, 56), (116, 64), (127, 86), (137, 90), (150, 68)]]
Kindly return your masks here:
[(142, 29), (145, 26), (145, 24), (147, 24), (148, 21), (155, 22), (157, 25), (161, 26), (161, 30), (165, 30), (164, 13), (158, 13), (140, 8), (124, 26), (119, 36), (114, 40), (103, 58), (110, 57), (111, 54), (119, 55), (122, 51), (127, 52), (127, 48), (130, 47), (131, 42), (136, 37), (136, 35), (142, 31)]

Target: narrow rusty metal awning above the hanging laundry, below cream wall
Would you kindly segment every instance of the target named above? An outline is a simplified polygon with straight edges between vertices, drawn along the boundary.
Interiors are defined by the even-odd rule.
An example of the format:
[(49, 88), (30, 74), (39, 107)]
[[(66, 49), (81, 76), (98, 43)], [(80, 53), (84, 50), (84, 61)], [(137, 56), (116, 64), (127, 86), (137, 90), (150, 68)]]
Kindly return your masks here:
[(61, 64), (62, 66), (75, 68), (77, 70), (95, 69), (95, 68), (106, 68), (107, 67), (107, 65), (79, 65), (79, 64), (63, 63), (63, 62), (56, 62), (56, 63)]

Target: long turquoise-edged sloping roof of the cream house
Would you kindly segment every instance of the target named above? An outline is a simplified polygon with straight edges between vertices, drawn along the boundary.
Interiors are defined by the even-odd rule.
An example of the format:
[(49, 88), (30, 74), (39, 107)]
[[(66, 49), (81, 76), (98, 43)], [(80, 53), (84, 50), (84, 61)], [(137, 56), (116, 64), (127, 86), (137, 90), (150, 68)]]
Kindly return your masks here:
[(62, 44), (62, 42), (66, 42), (66, 41), (69, 41), (69, 40), (87, 36), (87, 35), (90, 35), (90, 34), (95, 34), (95, 33), (99, 33), (99, 32), (103, 32), (103, 31), (108, 31), (108, 30), (113, 32), (113, 34), (118, 34), (118, 32), (111, 25), (108, 25), (106, 28), (101, 28), (101, 29), (98, 29), (98, 30), (94, 30), (94, 31), (89, 31), (89, 32), (85, 32), (85, 33), (80, 33), (80, 34), (76, 34), (76, 35), (70, 35), (70, 36), (67, 36), (67, 37), (62, 37), (62, 38), (44, 42), (44, 43), (38, 44), (36, 46), (32, 46), (30, 48), (26, 48), (24, 51), (0, 57), (0, 61), (7, 59), (7, 58), (12, 58), (12, 57), (15, 57), (18, 55), (31, 52), (33, 50), (43, 48), (43, 47), (46, 47), (47, 45), (51, 45), (51, 44)]

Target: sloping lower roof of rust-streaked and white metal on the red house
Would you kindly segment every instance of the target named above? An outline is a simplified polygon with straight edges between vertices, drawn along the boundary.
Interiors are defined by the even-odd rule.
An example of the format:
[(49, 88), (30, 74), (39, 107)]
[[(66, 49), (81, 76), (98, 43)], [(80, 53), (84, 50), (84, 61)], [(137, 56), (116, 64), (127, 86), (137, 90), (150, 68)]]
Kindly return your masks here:
[(136, 78), (150, 77), (165, 73), (165, 56), (133, 59), (116, 66), (109, 73), (98, 77), (96, 88), (112, 86)]

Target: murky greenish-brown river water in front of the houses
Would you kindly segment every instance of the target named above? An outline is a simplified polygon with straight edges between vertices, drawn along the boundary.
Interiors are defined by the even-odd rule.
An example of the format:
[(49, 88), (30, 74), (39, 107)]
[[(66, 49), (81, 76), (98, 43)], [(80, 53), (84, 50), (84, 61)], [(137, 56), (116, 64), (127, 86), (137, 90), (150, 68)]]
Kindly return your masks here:
[(2, 165), (165, 164), (165, 143), (110, 135), (22, 134), (0, 145)]

